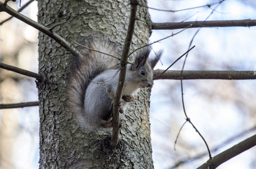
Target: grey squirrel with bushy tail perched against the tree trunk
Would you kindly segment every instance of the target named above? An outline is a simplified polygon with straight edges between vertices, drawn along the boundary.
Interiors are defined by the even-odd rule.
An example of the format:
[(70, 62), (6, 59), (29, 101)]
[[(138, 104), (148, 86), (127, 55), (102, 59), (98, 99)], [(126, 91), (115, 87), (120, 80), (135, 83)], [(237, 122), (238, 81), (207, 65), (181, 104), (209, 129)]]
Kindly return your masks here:
[[(117, 46), (109, 40), (89, 38), (85, 46), (112, 56), (118, 56)], [(81, 48), (82, 58), (74, 58), (67, 90), (68, 105), (74, 117), (87, 130), (112, 127), (112, 109), (118, 84), (120, 61), (102, 53)], [(162, 50), (149, 57), (150, 47), (135, 55), (127, 65), (122, 91), (121, 110), (125, 112), (140, 88), (153, 85), (153, 68), (162, 56)], [(121, 112), (121, 113), (122, 113)]]

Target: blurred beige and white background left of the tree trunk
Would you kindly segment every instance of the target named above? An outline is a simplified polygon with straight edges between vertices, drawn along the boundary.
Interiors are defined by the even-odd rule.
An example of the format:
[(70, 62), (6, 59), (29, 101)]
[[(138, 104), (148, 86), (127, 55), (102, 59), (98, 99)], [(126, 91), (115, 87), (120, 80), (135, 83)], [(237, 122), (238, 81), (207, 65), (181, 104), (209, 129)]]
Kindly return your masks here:
[[(2, 1), (1, 1), (2, 2)], [(9, 4), (9, 3), (8, 3)], [(24, 2), (22, 2), (22, 5)], [(19, 8), (19, 2), (9, 4)], [(22, 12), (37, 20), (37, 4)], [(10, 15), (0, 13), (0, 60), (32, 72), (38, 70), (38, 31)], [(0, 69), (0, 102), (20, 103), (38, 99), (34, 79)], [(0, 126), (0, 168), (38, 168), (38, 108), (2, 109)]]

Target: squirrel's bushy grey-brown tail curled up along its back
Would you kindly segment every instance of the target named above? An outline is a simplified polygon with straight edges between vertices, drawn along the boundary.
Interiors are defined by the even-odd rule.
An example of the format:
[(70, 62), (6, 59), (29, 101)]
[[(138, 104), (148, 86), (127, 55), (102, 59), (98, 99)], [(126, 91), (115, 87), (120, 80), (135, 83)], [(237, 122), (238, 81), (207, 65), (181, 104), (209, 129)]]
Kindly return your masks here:
[[(89, 38), (83, 44), (93, 50), (104, 52), (109, 55), (118, 57), (117, 46), (108, 40)], [(72, 111), (74, 118), (78, 119), (81, 124), (85, 122), (84, 99), (85, 92), (96, 75), (109, 69), (118, 69), (119, 61), (114, 57), (101, 54), (99, 52), (81, 47), (82, 58), (75, 57), (70, 74), (67, 88), (68, 106)]]

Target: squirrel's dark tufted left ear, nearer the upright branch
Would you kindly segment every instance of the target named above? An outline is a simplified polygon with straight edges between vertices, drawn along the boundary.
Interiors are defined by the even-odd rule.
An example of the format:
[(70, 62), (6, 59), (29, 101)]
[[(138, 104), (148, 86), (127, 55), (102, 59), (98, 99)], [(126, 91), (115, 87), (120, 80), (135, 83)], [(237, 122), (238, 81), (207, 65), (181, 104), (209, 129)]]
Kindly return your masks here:
[(149, 47), (143, 48), (143, 50), (141, 50), (139, 54), (135, 56), (135, 60), (133, 63), (134, 65), (131, 66), (131, 69), (135, 70), (144, 66), (148, 60), (149, 53), (150, 53)]

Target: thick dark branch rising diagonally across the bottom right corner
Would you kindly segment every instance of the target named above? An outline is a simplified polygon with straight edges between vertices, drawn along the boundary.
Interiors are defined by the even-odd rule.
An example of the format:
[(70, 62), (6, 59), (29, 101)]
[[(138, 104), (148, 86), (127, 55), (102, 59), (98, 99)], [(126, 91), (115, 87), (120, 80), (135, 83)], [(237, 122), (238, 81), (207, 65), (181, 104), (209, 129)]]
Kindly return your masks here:
[(197, 169), (215, 169), (220, 164), (228, 161), (229, 159), (235, 157), (236, 155), (245, 152), (246, 150), (252, 148), (256, 145), (256, 135), (249, 137), (248, 139), (242, 141), (232, 148), (227, 149), (226, 151), (216, 155), (212, 159), (209, 159), (206, 163), (202, 164)]

